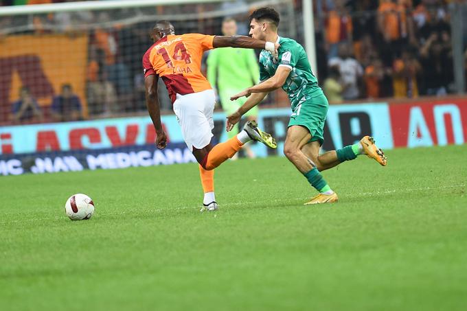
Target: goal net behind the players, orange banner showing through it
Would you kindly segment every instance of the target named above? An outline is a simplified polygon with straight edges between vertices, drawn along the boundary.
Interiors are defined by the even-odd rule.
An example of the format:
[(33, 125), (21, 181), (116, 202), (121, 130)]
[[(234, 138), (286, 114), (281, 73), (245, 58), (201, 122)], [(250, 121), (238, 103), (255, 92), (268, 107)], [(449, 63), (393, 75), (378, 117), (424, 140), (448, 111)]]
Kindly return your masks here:
[[(0, 124), (142, 114), (146, 106), (141, 56), (152, 44), (148, 31), (155, 21), (171, 21), (178, 34), (221, 34), (223, 19), (231, 16), (238, 21), (238, 34), (247, 34), (249, 13), (273, 6), (281, 15), (281, 34), (300, 42), (299, 3), (143, 0), (25, 5), (7, 12), (2, 8)], [(159, 91), (161, 108), (168, 112), (171, 104), (163, 84)], [(65, 108), (58, 115), (52, 109), (54, 97), (66, 93), (76, 95), (81, 113)], [(20, 99), (33, 104), (21, 119), (11, 119)], [(269, 102), (277, 98), (271, 96)]]

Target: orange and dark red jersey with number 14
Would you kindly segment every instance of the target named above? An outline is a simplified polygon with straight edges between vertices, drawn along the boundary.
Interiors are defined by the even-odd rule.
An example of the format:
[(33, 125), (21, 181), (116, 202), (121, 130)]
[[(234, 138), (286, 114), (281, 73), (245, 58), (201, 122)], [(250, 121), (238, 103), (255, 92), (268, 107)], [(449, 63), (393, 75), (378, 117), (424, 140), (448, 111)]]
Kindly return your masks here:
[(164, 36), (143, 56), (144, 77), (161, 77), (172, 103), (176, 100), (176, 94), (212, 89), (201, 73), (201, 58), (204, 51), (213, 49), (213, 40), (214, 36), (205, 34)]

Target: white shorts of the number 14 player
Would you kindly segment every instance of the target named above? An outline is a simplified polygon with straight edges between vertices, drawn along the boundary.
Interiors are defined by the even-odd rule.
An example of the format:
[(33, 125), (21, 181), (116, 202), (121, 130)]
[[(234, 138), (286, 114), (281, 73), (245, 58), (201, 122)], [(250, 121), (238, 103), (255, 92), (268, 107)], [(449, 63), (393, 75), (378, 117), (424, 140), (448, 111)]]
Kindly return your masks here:
[(181, 126), (181, 133), (188, 149), (193, 151), (209, 145), (214, 128), (212, 113), (216, 95), (213, 90), (206, 90), (186, 95), (176, 94), (174, 113)]

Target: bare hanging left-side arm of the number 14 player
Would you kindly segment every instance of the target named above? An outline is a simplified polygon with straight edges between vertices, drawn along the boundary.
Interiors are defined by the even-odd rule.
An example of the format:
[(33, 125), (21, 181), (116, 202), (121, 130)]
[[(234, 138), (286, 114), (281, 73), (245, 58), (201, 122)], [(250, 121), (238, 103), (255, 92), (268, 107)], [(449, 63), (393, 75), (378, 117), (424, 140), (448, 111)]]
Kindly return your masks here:
[(148, 107), (148, 113), (157, 134), (155, 143), (157, 148), (163, 149), (167, 146), (167, 136), (161, 123), (161, 109), (157, 98), (157, 80), (158, 78), (155, 75), (147, 76), (144, 78), (144, 87), (146, 88), (146, 107)]

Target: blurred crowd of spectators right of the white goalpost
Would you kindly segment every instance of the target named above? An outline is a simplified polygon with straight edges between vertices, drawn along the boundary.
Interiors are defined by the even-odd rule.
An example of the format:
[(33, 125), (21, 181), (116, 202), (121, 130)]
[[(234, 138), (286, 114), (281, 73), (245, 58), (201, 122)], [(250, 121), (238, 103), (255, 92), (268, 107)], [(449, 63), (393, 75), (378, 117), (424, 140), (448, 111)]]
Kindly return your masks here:
[(342, 102), (452, 93), (448, 2), (321, 1), (318, 72), (328, 96)]

